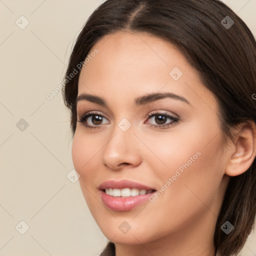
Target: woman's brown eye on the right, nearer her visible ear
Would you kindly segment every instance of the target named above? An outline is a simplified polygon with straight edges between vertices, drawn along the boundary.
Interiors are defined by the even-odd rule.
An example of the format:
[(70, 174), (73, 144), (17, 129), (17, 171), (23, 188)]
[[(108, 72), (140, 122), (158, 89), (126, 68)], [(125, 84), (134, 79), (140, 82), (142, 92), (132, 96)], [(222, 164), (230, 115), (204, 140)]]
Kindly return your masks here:
[[(154, 118), (152, 118), (155, 116)], [(148, 119), (152, 118), (155, 122), (155, 124), (151, 124), (150, 126), (153, 126), (155, 128), (167, 128), (169, 126), (174, 125), (178, 122), (178, 118), (174, 117), (172, 115), (167, 114), (166, 112), (153, 112), (147, 115)], [(167, 119), (170, 119), (171, 121), (165, 123)]]

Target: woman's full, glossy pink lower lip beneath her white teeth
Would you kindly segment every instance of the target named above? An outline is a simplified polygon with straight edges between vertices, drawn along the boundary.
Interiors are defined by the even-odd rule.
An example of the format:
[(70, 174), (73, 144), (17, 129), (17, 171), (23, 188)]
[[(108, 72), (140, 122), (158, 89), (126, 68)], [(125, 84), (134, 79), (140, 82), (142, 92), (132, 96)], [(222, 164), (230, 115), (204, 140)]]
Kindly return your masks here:
[[(155, 191), (154, 191), (155, 192)], [(100, 190), (100, 196), (103, 203), (111, 210), (127, 211), (135, 208), (145, 201), (149, 201), (149, 197), (154, 193), (139, 194), (135, 196), (112, 196)]]

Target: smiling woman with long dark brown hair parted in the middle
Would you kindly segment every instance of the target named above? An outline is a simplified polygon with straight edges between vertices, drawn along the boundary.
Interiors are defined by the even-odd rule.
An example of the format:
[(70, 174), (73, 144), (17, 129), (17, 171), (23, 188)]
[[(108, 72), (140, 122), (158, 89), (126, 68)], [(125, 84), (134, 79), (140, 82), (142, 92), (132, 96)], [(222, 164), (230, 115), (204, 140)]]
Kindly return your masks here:
[(256, 213), (255, 93), (255, 39), (218, 0), (107, 0), (90, 15), (63, 97), (101, 255), (241, 250)]

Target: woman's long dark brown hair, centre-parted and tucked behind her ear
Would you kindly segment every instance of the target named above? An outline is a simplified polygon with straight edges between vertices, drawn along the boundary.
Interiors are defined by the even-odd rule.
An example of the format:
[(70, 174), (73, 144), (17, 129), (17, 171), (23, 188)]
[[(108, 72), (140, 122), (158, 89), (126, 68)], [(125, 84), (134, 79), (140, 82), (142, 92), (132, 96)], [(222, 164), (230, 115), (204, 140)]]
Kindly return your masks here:
[[(234, 22), (229, 28), (222, 22), (226, 16)], [(236, 124), (247, 120), (256, 123), (256, 100), (252, 97), (256, 92), (256, 42), (227, 5), (219, 0), (106, 0), (79, 33), (65, 75), (84, 61), (100, 38), (118, 31), (146, 32), (182, 52), (217, 100), (224, 141), (233, 138), (231, 128)], [(62, 87), (64, 103), (71, 112), (72, 135), (77, 122), (79, 73)], [(244, 173), (231, 176), (227, 185), (214, 231), (215, 249), (221, 256), (237, 255), (253, 228), (255, 159)], [(227, 220), (234, 226), (229, 234), (220, 228)]]

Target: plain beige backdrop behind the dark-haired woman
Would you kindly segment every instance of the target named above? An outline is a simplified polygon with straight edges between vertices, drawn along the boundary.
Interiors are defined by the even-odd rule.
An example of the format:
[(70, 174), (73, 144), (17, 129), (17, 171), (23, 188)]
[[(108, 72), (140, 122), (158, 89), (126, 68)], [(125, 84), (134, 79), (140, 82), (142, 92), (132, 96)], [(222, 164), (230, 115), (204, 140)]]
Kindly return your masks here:
[[(96, 256), (106, 244), (78, 181), (66, 176), (72, 140), (61, 92), (46, 98), (101, 2), (0, 0), (0, 256)], [(256, 0), (224, 2), (256, 35)], [(23, 120), (16, 125), (21, 118), (28, 127)], [(29, 226), (24, 234), (20, 221)], [(255, 232), (249, 238), (243, 256), (256, 255)]]

